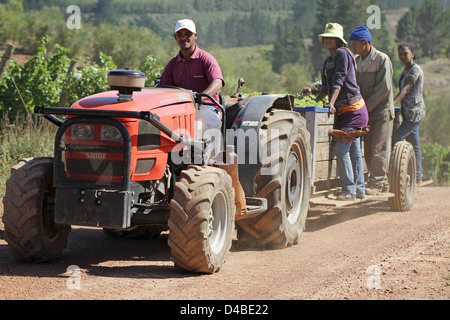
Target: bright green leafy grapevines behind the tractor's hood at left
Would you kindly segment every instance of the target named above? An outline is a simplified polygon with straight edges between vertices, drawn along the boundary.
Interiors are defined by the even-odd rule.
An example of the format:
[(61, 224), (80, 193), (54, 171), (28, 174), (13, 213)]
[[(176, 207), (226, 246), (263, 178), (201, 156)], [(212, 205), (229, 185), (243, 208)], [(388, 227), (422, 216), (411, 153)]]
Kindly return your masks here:
[[(11, 59), (0, 82), (0, 115), (13, 120), (18, 115), (33, 112), (35, 106), (58, 106), (63, 91), (69, 107), (83, 97), (110, 90), (108, 72), (117, 69), (112, 57), (100, 52), (98, 64), (82, 58), (68, 74), (69, 50), (56, 44), (54, 53), (49, 55), (49, 43), (50, 37), (42, 38), (36, 54), (23, 66)], [(153, 86), (162, 68), (149, 55), (139, 71), (147, 75), (147, 86)]]

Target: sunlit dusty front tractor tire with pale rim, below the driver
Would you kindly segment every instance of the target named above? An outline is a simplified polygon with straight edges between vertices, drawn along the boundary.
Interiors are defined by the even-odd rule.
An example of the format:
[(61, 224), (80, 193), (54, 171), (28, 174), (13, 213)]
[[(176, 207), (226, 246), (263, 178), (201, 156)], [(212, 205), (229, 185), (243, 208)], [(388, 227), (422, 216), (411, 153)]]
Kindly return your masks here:
[(169, 246), (176, 267), (217, 272), (234, 233), (234, 189), (222, 169), (189, 166), (175, 184), (170, 203)]

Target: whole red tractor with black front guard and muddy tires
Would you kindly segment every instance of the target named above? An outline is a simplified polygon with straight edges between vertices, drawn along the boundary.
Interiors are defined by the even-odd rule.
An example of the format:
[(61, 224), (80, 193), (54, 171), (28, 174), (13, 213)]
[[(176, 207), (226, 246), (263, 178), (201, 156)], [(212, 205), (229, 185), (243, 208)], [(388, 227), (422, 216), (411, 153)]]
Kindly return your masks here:
[(7, 182), (5, 239), (17, 259), (57, 259), (71, 225), (118, 235), (168, 230), (175, 265), (201, 273), (222, 267), (235, 224), (244, 245), (298, 241), (311, 147), (293, 97), (235, 95), (220, 104), (208, 96), (223, 120), (221, 152), (211, 158), (204, 94), (144, 88), (138, 71), (108, 78), (111, 91), (71, 108), (36, 107), (59, 128), (54, 157), (21, 160)]

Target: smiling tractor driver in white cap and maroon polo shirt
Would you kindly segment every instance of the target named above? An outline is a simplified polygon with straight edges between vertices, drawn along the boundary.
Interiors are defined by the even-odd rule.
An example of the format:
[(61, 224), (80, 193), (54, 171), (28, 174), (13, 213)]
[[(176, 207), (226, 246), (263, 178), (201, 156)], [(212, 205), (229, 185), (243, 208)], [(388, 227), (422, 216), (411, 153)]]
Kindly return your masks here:
[[(219, 91), (225, 86), (222, 71), (217, 60), (197, 44), (195, 23), (189, 19), (179, 20), (175, 25), (174, 38), (180, 47), (179, 53), (164, 68), (159, 86), (176, 86), (194, 92), (206, 93), (219, 100)], [(214, 150), (220, 146), (221, 114), (205, 100), (202, 110), (203, 132), (205, 139), (211, 140)]]

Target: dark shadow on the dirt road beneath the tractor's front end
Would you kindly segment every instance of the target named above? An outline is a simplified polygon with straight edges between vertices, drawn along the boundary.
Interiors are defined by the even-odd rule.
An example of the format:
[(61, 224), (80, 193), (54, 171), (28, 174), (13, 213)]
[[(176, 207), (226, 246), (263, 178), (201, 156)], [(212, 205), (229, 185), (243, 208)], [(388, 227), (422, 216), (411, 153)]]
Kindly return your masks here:
[(115, 278), (186, 278), (170, 261), (168, 234), (156, 239), (106, 236), (101, 229), (73, 228), (67, 247), (54, 263), (17, 261), (5, 241), (0, 242), (0, 276), (64, 277), (77, 266), (89, 275)]

